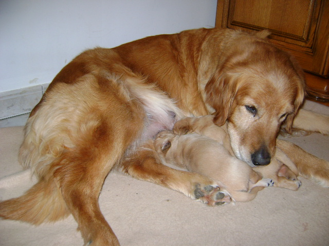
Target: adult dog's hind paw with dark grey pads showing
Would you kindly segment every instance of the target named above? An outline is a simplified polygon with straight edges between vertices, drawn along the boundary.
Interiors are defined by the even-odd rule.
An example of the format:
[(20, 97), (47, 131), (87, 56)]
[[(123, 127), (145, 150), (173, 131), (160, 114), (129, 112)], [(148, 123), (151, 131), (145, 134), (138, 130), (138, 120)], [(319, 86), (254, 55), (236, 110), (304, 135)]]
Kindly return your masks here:
[(195, 185), (194, 199), (208, 204), (208, 206), (218, 206), (232, 201), (230, 195), (226, 191), (222, 191), (218, 186), (201, 186), (199, 183)]

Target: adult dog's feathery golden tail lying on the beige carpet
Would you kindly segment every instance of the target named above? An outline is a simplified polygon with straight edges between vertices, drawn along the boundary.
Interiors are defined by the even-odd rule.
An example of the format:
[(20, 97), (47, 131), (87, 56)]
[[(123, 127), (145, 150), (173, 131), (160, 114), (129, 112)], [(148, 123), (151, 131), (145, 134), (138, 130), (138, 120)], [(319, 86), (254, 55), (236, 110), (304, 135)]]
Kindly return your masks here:
[(32, 224), (56, 221), (69, 215), (53, 179), (40, 180), (24, 195), (0, 202), (0, 217)]

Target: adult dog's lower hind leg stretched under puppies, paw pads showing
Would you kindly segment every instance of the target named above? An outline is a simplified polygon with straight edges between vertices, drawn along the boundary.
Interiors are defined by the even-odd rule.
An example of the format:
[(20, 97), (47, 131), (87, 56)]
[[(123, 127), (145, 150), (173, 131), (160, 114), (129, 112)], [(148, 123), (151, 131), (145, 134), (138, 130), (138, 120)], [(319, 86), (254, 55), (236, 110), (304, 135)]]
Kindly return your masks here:
[(140, 180), (150, 181), (158, 185), (179, 191), (193, 200), (207, 203), (209, 206), (230, 202), (225, 191), (220, 191), (217, 183), (203, 175), (180, 171), (162, 165), (150, 140), (141, 150), (125, 159), (122, 170)]

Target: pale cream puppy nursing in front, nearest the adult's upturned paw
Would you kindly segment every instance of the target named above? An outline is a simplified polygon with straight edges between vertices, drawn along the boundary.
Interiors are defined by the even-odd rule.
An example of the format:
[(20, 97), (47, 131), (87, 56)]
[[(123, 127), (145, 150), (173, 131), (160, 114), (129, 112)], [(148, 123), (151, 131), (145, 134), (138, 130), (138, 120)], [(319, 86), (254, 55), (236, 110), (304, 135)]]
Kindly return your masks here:
[(259, 190), (273, 186), (272, 179), (263, 178), (247, 163), (230, 155), (222, 144), (206, 136), (196, 133), (179, 136), (162, 131), (155, 138), (154, 147), (164, 163), (218, 180), (221, 189), (234, 201), (250, 201)]

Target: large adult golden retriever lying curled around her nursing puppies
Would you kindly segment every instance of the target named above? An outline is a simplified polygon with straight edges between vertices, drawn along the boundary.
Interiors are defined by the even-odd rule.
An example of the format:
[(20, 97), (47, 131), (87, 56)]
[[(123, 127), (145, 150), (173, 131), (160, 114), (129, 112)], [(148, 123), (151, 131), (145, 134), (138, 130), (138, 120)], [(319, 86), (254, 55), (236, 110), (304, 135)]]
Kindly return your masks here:
[[(207, 189), (216, 186), (213, 180), (161, 165), (148, 141), (183, 116), (214, 113), (218, 126), (228, 120), (236, 157), (267, 165), (280, 126), (291, 130), (305, 86), (294, 59), (265, 36), (197, 29), (78, 55), (53, 79), (25, 127), (19, 159), (39, 182), (1, 202), (0, 215), (39, 224), (71, 213), (85, 244), (118, 245), (98, 205), (114, 167), (192, 199), (215, 199), (218, 188)], [(325, 126), (308, 129), (308, 115), (297, 126), (306, 122), (305, 130), (329, 132), (324, 116), (316, 121)], [(290, 155), (297, 147), (287, 146), (304, 174), (329, 185), (327, 163), (310, 165), (307, 157)]]

